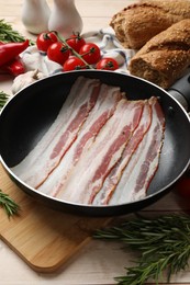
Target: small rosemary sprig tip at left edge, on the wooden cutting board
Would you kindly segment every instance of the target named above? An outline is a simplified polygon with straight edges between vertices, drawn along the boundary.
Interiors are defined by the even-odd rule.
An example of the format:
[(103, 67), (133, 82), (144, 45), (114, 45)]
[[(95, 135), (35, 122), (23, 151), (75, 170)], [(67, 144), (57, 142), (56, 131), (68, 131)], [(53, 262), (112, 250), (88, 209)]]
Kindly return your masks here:
[(20, 206), (2, 190), (0, 190), (0, 206), (5, 210), (9, 218), (20, 210)]

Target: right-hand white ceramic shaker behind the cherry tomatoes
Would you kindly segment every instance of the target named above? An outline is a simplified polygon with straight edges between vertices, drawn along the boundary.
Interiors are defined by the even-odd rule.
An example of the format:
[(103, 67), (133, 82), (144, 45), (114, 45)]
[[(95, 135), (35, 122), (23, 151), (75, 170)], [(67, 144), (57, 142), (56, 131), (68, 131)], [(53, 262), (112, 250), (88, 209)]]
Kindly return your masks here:
[(83, 23), (76, 9), (75, 0), (54, 0), (48, 31), (57, 31), (67, 38), (72, 33), (81, 33), (82, 26)]

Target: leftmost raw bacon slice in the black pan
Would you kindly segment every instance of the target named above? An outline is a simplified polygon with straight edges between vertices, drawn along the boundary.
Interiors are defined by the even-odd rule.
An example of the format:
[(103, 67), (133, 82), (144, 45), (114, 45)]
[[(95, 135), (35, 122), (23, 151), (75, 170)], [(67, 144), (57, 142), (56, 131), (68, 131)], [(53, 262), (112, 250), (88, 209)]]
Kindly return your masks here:
[[(79, 78), (55, 123), (13, 172), (30, 186), (37, 187), (59, 163), (77, 138), (81, 125), (94, 106), (100, 89), (97, 79)], [(54, 135), (53, 135), (54, 134)]]

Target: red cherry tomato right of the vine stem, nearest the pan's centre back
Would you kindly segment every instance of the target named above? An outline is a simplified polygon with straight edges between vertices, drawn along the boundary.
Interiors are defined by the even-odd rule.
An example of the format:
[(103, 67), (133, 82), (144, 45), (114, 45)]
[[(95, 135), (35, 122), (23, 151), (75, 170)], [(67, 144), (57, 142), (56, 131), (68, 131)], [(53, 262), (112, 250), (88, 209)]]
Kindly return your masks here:
[(82, 56), (82, 58), (88, 62), (89, 65), (94, 65), (100, 60), (100, 48), (93, 44), (93, 43), (87, 43), (85, 44), (80, 50), (79, 54)]

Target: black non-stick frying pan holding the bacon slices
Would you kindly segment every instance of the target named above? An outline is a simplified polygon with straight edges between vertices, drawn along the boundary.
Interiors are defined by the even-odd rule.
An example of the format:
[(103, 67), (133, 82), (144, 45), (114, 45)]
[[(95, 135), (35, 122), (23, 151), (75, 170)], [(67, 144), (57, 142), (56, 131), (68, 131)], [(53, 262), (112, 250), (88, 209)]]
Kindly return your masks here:
[[(152, 95), (158, 96), (160, 100), (166, 116), (166, 132), (159, 169), (148, 187), (147, 196), (141, 201), (113, 206), (88, 206), (63, 202), (38, 193), (24, 184), (10, 170), (30, 152), (51, 126), (71, 84), (81, 75), (87, 78), (99, 78), (104, 83), (121, 87), (131, 100), (148, 99)], [(189, 77), (187, 79), (189, 80)], [(189, 86), (187, 91), (190, 91)], [(3, 107), (0, 115), (0, 134), (1, 162), (22, 190), (56, 209), (93, 216), (125, 214), (148, 206), (168, 193), (190, 163), (190, 119), (181, 104), (155, 84), (112, 71), (74, 71), (56, 75), (31, 84), (20, 91)]]

